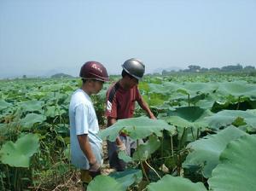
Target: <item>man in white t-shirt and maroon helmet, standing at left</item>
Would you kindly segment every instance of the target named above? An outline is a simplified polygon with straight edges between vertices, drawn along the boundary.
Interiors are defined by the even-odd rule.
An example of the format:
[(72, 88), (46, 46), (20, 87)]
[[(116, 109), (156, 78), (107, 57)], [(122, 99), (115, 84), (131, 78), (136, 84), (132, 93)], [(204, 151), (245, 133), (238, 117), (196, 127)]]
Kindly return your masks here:
[(102, 90), (108, 72), (97, 61), (85, 62), (80, 70), (82, 87), (76, 90), (69, 105), (71, 162), (81, 169), (81, 179), (89, 183), (101, 174), (102, 139), (97, 135), (99, 124), (90, 95)]

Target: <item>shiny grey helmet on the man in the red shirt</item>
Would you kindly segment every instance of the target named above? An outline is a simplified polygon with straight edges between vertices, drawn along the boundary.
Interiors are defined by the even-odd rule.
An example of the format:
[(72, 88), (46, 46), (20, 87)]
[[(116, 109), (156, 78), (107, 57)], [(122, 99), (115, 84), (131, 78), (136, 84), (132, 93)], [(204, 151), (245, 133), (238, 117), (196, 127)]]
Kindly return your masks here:
[(122, 65), (125, 72), (129, 73), (131, 76), (137, 79), (143, 78), (145, 72), (145, 65), (142, 61), (136, 58), (131, 58)]

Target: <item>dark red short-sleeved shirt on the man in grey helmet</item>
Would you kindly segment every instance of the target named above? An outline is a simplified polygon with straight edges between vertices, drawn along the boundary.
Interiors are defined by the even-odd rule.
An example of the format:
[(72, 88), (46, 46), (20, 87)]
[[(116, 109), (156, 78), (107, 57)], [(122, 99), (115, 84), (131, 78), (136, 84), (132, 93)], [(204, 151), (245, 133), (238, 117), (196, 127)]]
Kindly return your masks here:
[(127, 119), (133, 116), (135, 101), (142, 99), (137, 86), (125, 90), (119, 82), (113, 84), (107, 91), (106, 116), (114, 119)]

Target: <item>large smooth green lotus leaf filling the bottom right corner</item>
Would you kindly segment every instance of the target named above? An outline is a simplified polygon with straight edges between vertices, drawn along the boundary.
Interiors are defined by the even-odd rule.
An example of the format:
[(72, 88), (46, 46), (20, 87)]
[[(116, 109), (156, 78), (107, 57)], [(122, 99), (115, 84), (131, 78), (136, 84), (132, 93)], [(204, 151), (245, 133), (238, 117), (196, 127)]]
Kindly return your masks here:
[(256, 136), (245, 135), (230, 142), (220, 155), (220, 164), (208, 180), (212, 190), (256, 190)]

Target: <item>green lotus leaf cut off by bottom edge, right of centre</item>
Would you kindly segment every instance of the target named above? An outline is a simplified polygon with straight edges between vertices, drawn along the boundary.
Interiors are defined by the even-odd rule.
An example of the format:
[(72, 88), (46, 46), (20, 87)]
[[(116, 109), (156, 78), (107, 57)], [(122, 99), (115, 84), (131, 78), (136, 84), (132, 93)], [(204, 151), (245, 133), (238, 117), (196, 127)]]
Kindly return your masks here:
[(148, 184), (148, 191), (207, 191), (207, 188), (201, 182), (191, 182), (187, 178), (172, 177), (166, 175), (158, 182)]

